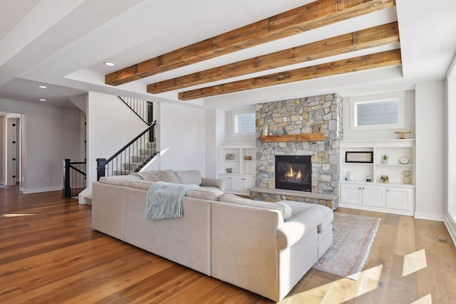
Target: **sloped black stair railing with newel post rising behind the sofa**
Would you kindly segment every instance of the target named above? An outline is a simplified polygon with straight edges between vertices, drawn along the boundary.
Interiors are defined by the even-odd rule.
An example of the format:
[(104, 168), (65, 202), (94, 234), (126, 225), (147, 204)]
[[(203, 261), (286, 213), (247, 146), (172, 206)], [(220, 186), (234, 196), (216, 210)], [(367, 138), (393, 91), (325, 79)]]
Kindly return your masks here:
[(100, 177), (113, 175), (127, 175), (130, 172), (139, 172), (147, 162), (157, 154), (155, 143), (150, 140), (150, 133), (154, 132), (156, 122), (153, 121), (146, 130), (127, 145), (115, 152), (112, 157), (97, 159), (97, 180)]

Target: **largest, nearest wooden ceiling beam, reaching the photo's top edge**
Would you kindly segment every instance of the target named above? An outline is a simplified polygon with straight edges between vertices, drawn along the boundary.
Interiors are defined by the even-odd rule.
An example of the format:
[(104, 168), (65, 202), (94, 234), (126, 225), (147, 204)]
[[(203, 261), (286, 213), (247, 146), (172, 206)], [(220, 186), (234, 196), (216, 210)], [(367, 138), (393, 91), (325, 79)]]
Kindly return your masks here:
[(395, 0), (317, 0), (110, 73), (105, 83), (121, 85), (391, 6)]

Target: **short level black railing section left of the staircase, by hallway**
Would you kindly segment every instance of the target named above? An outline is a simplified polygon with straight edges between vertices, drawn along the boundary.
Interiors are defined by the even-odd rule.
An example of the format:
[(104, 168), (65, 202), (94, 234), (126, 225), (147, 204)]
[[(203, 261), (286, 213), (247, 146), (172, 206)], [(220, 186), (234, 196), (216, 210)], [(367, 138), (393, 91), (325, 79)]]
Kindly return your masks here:
[(86, 162), (63, 159), (62, 197), (74, 197), (86, 189)]

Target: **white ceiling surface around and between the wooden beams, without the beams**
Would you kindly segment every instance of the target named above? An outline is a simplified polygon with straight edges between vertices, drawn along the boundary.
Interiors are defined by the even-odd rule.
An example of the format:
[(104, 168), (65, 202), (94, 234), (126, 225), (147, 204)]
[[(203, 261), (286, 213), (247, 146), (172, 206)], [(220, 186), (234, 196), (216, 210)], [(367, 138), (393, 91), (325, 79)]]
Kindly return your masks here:
[[(353, 96), (410, 90), (415, 83), (445, 79), (456, 54), (456, 1), (396, 0), (396, 8), (393, 9), (335, 23), (133, 83), (117, 87), (104, 84), (104, 75), (107, 73), (309, 2), (312, 1), (1, 0), (0, 98), (33, 103), (37, 103), (39, 98), (46, 98), (49, 104), (71, 106), (68, 98), (93, 90), (151, 101), (231, 109), (324, 93)], [(194, 101), (177, 100), (179, 91), (160, 95), (146, 93), (148, 83), (396, 20), (400, 32), (401, 67), (318, 78)], [(286, 70), (392, 48), (398, 46), (333, 56), (293, 65)], [(109, 68), (103, 65), (105, 61), (117, 65)], [(284, 69), (268, 70), (253, 76), (279, 70)], [(237, 79), (241, 78), (224, 82)], [(48, 89), (38, 89), (37, 85), (40, 84), (48, 85)]]

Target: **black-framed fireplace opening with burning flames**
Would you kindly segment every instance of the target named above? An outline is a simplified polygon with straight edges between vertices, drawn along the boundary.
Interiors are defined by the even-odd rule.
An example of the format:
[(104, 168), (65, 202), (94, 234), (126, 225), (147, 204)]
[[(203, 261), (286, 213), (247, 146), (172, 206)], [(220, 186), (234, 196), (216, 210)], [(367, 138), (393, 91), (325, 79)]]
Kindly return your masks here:
[(311, 192), (311, 156), (276, 155), (275, 181), (276, 189)]

